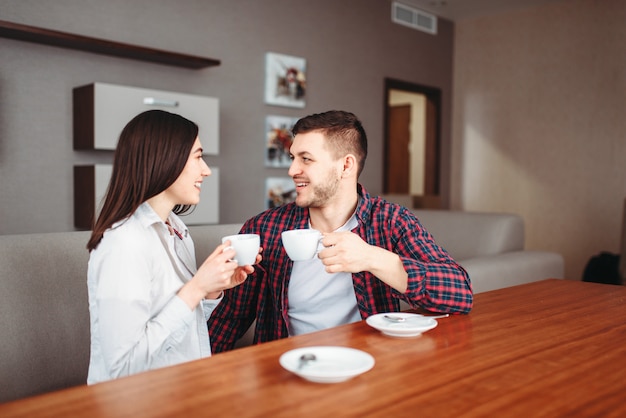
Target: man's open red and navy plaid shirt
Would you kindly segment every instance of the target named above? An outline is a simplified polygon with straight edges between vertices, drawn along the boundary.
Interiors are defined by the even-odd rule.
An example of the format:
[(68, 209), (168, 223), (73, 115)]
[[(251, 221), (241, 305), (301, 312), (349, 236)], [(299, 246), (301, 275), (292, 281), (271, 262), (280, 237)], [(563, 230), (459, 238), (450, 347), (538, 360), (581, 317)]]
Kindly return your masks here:
[[(352, 274), (357, 305), (363, 319), (399, 310), (399, 299), (434, 312), (467, 313), (473, 293), (469, 277), (407, 208), (370, 197), (360, 185), (356, 210), (358, 226), (352, 230), (370, 245), (400, 256), (408, 273), (402, 294), (369, 272)], [(287, 288), (293, 261), (280, 234), (308, 228), (309, 211), (295, 203), (269, 209), (248, 220), (241, 233), (261, 235), (263, 261), (240, 286), (224, 292), (224, 299), (208, 321), (212, 352), (232, 349), (256, 318), (255, 343), (289, 336)]]

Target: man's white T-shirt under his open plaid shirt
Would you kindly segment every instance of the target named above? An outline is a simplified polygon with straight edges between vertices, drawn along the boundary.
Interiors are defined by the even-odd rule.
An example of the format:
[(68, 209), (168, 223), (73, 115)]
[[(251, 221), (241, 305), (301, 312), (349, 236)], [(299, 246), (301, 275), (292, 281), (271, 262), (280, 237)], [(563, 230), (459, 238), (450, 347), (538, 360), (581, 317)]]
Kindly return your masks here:
[[(351, 231), (356, 215), (337, 231)], [(318, 245), (318, 252), (324, 249)], [(327, 273), (319, 257), (294, 261), (289, 280), (289, 335), (306, 334), (360, 321), (352, 273)]]

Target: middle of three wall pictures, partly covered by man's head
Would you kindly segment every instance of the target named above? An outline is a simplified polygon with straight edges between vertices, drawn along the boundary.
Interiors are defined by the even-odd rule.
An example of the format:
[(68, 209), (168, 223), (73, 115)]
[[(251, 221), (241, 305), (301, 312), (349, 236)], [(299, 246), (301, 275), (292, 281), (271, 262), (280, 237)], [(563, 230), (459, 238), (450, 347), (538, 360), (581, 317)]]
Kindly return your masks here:
[(298, 118), (267, 116), (265, 118), (265, 166), (289, 167), (289, 148), (293, 142), (291, 128)]

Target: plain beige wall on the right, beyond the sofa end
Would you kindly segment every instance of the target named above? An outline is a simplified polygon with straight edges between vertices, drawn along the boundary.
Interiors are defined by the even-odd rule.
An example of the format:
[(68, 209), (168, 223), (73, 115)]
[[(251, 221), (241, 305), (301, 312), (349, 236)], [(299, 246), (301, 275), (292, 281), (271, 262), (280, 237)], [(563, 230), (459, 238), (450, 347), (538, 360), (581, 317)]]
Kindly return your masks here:
[(452, 206), (522, 215), (571, 279), (626, 251), (626, 1), (462, 21), (454, 49)]

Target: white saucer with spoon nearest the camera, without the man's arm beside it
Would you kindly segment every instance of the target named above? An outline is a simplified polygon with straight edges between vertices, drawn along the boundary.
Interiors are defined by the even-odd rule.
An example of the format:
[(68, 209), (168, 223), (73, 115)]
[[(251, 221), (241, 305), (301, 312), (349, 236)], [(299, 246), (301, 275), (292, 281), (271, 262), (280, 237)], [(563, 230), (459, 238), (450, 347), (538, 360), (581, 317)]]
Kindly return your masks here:
[[(315, 360), (301, 365), (303, 354), (315, 355)], [(316, 383), (338, 383), (358, 376), (374, 367), (374, 357), (348, 347), (303, 347), (280, 356), (280, 365), (303, 379)]]

